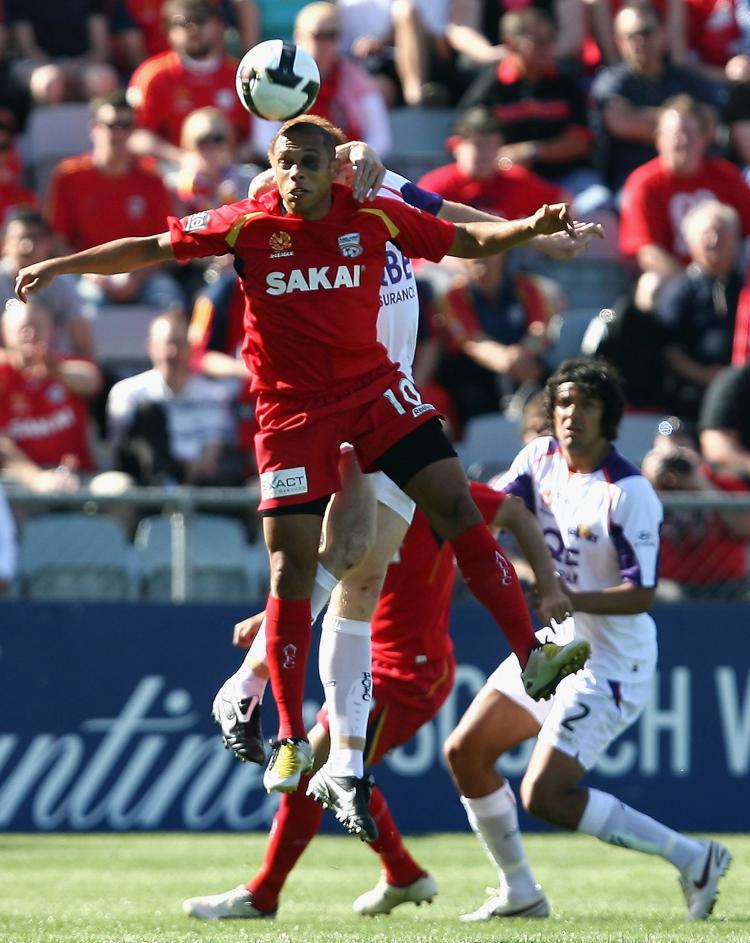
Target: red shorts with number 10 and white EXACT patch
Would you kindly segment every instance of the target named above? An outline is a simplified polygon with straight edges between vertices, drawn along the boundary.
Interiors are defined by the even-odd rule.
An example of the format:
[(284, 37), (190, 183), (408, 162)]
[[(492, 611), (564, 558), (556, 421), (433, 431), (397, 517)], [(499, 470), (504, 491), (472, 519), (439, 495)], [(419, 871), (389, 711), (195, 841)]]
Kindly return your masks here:
[(303, 504), (341, 488), (339, 449), (351, 442), (366, 472), (388, 449), (439, 413), (395, 367), (317, 401), (258, 397), (258, 509)]

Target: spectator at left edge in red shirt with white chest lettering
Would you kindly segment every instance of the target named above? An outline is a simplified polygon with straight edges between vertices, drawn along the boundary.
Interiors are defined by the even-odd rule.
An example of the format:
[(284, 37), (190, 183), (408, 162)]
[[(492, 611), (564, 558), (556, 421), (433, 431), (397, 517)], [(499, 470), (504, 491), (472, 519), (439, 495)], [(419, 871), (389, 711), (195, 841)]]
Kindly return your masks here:
[(70, 490), (91, 472), (88, 400), (101, 375), (87, 360), (52, 351), (43, 304), (9, 302), (2, 314), (0, 451), (5, 473), (37, 491)]

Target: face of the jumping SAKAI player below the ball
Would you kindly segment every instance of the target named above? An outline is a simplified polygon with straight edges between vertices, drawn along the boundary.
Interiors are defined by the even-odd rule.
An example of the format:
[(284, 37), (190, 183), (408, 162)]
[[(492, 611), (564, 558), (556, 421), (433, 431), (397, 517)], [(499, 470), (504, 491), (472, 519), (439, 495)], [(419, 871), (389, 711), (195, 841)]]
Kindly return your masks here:
[(318, 135), (282, 135), (271, 163), (284, 206), (304, 219), (322, 219), (331, 208), (338, 164)]

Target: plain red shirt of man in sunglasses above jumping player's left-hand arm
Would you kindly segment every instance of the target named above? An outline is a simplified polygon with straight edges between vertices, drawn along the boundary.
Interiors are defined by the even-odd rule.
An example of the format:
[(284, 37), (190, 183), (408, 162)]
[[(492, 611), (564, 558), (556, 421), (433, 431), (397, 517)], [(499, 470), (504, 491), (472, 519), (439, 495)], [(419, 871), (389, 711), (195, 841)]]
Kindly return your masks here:
[(50, 181), (47, 218), (75, 252), (122, 239), (164, 232), (170, 198), (150, 161), (136, 161), (118, 176), (94, 167), (91, 154), (58, 164)]

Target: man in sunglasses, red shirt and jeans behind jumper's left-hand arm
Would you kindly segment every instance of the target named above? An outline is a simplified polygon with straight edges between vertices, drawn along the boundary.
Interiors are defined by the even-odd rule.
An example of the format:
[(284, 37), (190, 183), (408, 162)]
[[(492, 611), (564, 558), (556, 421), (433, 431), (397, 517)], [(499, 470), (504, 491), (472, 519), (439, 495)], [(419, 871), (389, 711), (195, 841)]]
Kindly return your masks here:
[[(96, 99), (91, 110), (93, 148), (61, 161), (47, 198), (50, 226), (75, 251), (128, 233), (153, 235), (171, 212), (161, 177), (128, 148), (134, 119), (124, 93)], [(179, 287), (164, 270), (84, 277), (79, 292), (93, 309), (104, 303), (184, 307)]]

